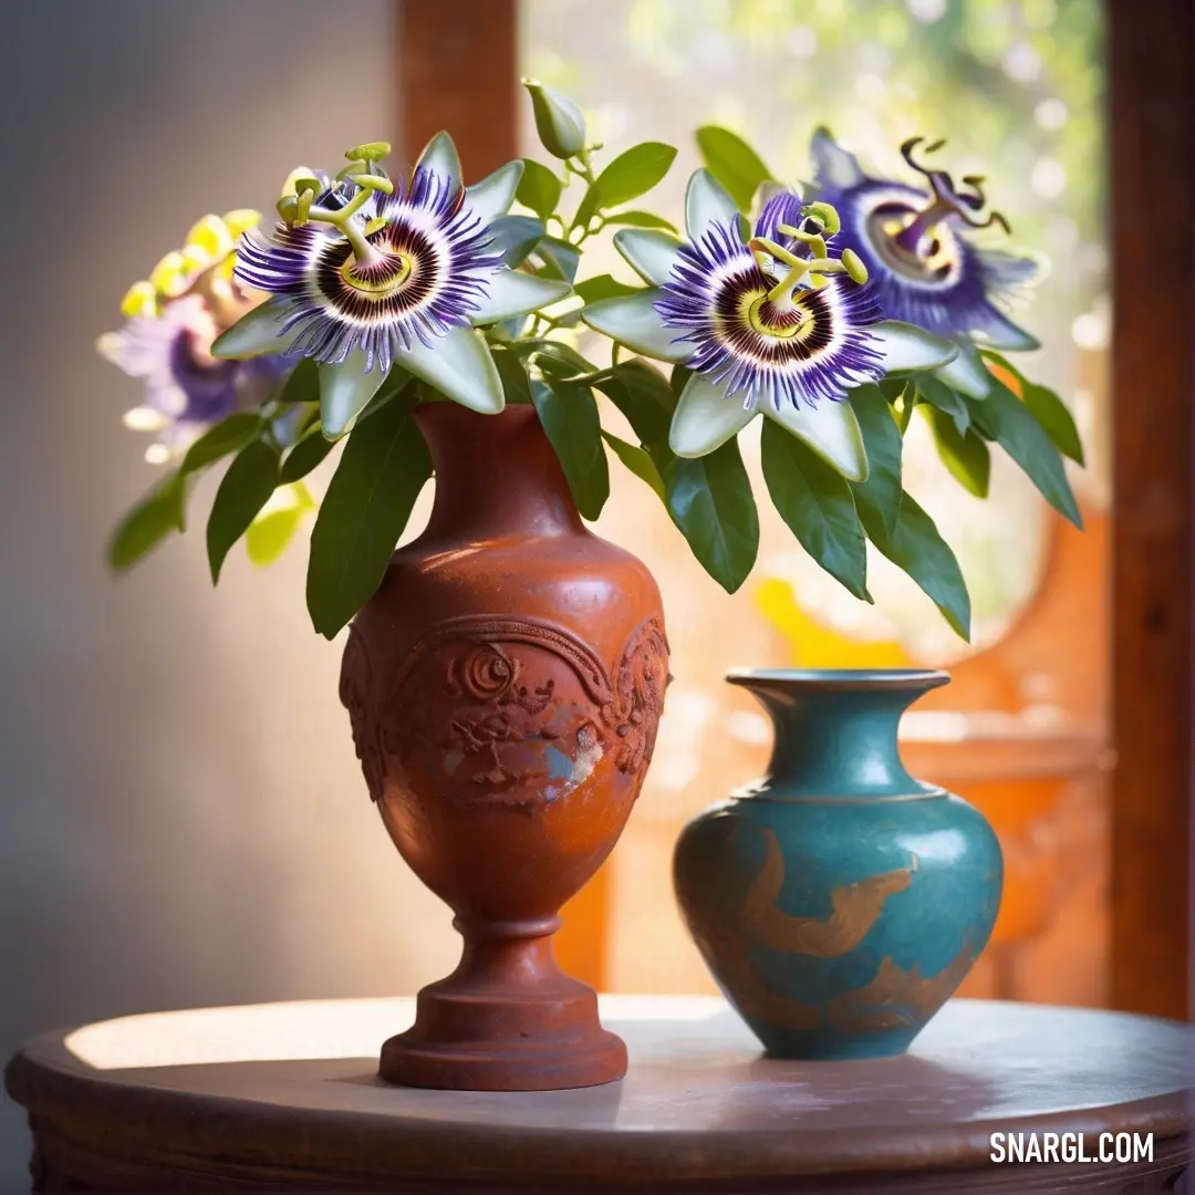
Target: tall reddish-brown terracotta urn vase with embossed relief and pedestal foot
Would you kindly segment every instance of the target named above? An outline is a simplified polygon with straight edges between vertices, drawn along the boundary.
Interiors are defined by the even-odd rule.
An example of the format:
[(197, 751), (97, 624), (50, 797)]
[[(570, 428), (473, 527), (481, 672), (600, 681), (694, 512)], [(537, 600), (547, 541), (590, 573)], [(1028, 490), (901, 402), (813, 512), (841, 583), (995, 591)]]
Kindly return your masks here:
[(465, 945), (380, 1073), (488, 1091), (608, 1083), (626, 1048), (556, 966), (552, 934), (651, 759), (660, 592), (586, 529), (534, 407), (431, 403), (415, 418), (435, 504), (354, 620), (341, 699), (386, 829)]

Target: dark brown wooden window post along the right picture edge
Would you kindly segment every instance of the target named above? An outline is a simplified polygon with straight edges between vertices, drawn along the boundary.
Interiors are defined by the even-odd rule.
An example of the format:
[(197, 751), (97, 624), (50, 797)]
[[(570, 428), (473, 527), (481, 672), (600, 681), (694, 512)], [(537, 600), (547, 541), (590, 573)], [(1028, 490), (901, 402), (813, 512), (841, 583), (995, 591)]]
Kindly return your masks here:
[(1108, 0), (1111, 1001), (1187, 1017), (1191, 964), (1195, 17)]

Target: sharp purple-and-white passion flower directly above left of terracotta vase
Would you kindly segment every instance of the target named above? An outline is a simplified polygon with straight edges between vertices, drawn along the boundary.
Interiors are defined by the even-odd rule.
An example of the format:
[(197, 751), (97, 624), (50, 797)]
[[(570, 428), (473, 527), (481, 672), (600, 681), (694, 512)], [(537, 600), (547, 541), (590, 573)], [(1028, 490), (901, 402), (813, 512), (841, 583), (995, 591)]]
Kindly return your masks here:
[(502, 384), (474, 329), (571, 290), (509, 269), (496, 251), (490, 225), (514, 200), (521, 161), (464, 188), (440, 134), (403, 185), (376, 165), (386, 151), (357, 147), (337, 179), (300, 179), (272, 237), (245, 239), (237, 276), (272, 298), (214, 347), (229, 358), (281, 347), (319, 362), (330, 436), (351, 427), (394, 367), (476, 411), (501, 410)]

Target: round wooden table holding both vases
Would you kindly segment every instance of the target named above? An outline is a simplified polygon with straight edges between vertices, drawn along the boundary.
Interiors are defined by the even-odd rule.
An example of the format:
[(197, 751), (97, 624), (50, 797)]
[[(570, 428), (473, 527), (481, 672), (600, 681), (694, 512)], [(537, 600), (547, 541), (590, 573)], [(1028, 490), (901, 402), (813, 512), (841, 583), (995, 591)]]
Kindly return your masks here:
[[(1182, 1191), (1195, 1032), (954, 1000), (903, 1058), (782, 1062), (721, 1000), (603, 997), (621, 1083), (534, 1095), (378, 1079), (413, 1001), (151, 1013), (47, 1034), (10, 1064), (44, 1191)], [(992, 1134), (1098, 1158), (992, 1160)], [(1030, 1136), (1036, 1134), (1036, 1136)], [(1005, 1145), (1005, 1150), (1012, 1148)], [(1195, 1188), (1193, 1188), (1195, 1191)]]

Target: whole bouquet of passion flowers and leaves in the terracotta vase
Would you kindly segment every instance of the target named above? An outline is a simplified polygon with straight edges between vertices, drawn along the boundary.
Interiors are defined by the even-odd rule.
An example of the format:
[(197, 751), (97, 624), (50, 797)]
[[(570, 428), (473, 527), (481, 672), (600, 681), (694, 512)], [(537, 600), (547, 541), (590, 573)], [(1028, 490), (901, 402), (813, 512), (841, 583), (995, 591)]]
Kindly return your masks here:
[[(736, 437), (762, 415), (764, 480), (802, 547), (870, 601), (870, 540), (963, 637), (958, 564), (901, 480), (915, 410), (970, 492), (987, 495), (997, 445), (1079, 525), (1064, 468), (1083, 461), (1074, 422), (1003, 355), (1038, 347), (1006, 307), (1040, 262), (976, 237), (1007, 221), (982, 179), (938, 166), (942, 142), (907, 141), (907, 173), (887, 179), (820, 130), (798, 192), (736, 135), (703, 128), (680, 234), (632, 207), (673, 147), (643, 142), (599, 170), (580, 109), (525, 84), (556, 167), (521, 159), (466, 186), (447, 134), (409, 176), (387, 172), (390, 146), (358, 145), (335, 176), (294, 171), (268, 233), (257, 213), (206, 216), (129, 290), (124, 327), (99, 348), (145, 380), (125, 422), (157, 435), (147, 458), (166, 472), (117, 528), (114, 569), (182, 531), (191, 483), (227, 460), (207, 523), (213, 581), (239, 539), (266, 563), (313, 513), (307, 605), (333, 637), (431, 474), (410, 418), (429, 402), (533, 404), (586, 519), (608, 497), (608, 453), (730, 592), (759, 544)], [(566, 190), (580, 198), (564, 204)], [(637, 282), (586, 274), (587, 243), (608, 229)], [(608, 363), (592, 360), (600, 337)], [(602, 427), (598, 396), (638, 442)], [(339, 440), (317, 503), (304, 478)]]

